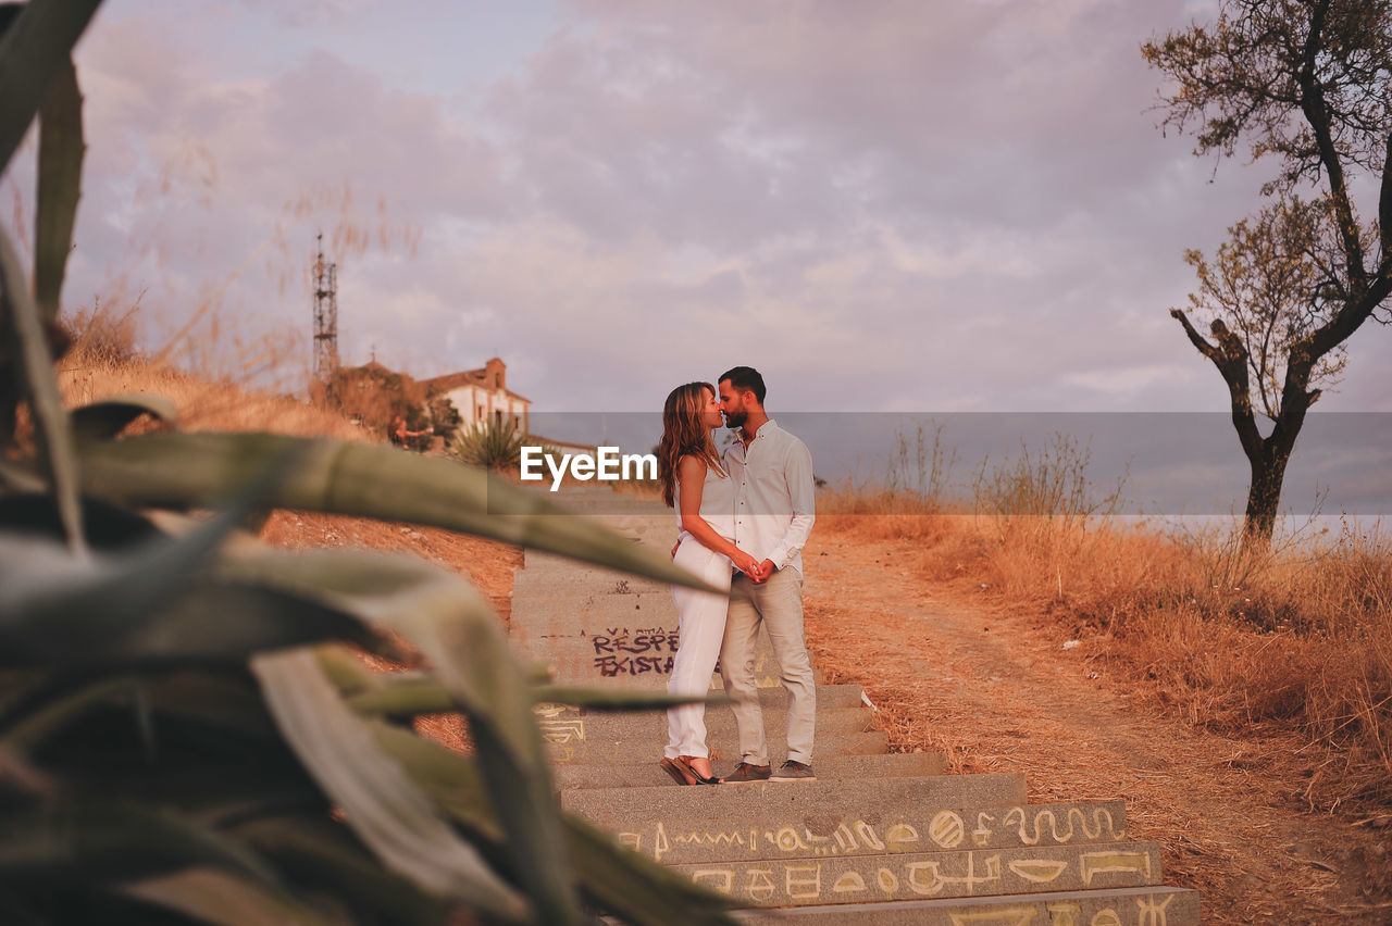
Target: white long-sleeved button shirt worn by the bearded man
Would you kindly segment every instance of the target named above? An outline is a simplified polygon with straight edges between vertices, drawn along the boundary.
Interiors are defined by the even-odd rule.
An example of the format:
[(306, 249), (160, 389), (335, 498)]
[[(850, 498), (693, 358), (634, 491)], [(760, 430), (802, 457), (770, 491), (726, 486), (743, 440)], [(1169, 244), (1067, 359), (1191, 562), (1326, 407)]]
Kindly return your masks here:
[(807, 445), (770, 419), (749, 446), (731, 444), (722, 462), (735, 484), (735, 546), (802, 574), (802, 548), (816, 520)]

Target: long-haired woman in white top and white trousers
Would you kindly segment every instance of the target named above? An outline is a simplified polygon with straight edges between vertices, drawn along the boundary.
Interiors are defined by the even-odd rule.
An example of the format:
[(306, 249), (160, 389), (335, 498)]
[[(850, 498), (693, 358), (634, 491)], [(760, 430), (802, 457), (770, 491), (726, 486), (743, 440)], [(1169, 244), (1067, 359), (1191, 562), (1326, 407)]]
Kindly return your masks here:
[[(657, 444), (663, 501), (679, 513), (681, 535), (672, 560), (715, 588), (729, 590), (729, 567), (754, 573), (759, 563), (738, 549), (735, 487), (720, 466), (710, 432), (724, 424), (720, 400), (709, 382), (677, 387), (663, 406), (663, 439)], [(667, 681), (668, 694), (703, 697), (725, 635), (727, 596), (693, 588), (672, 588), (681, 620), (681, 644)], [(706, 705), (667, 710), (663, 769), (678, 784), (720, 784), (706, 748)]]

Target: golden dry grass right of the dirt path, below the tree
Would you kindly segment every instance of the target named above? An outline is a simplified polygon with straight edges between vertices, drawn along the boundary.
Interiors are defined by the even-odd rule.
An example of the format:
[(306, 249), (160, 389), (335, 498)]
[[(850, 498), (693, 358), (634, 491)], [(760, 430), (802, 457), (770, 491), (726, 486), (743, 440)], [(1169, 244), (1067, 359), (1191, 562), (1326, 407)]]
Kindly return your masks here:
[(1311, 808), (1392, 806), (1392, 542), (1381, 534), (1243, 556), (1221, 535), (934, 514), (888, 494), (828, 494), (818, 510), (818, 530), (915, 541), (927, 578), (1062, 624), (1190, 724), (1293, 734)]

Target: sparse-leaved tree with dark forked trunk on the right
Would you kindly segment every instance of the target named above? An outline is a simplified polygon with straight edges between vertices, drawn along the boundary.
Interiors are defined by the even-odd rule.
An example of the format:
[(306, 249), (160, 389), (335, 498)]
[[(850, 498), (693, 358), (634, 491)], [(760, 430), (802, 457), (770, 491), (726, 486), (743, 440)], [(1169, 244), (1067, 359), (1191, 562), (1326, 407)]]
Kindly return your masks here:
[[(1392, 0), (1219, 0), (1211, 26), (1143, 46), (1175, 86), (1165, 125), (1194, 129), (1196, 154), (1275, 157), (1271, 202), (1229, 229), (1190, 309), (1171, 309), (1222, 374), (1251, 469), (1244, 538), (1270, 542), (1306, 413), (1343, 368), (1364, 321), (1392, 293)], [(1354, 188), (1378, 189), (1364, 221)], [(1306, 197), (1302, 197), (1302, 193)], [(1271, 421), (1263, 437), (1257, 410)]]

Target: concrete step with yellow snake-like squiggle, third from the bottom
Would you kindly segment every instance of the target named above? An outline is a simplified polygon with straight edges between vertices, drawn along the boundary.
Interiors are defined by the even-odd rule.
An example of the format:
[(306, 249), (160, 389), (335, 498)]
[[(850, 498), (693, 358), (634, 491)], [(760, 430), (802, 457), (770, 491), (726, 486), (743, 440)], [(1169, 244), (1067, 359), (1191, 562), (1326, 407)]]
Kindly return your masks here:
[(625, 845), (664, 865), (1050, 848), (1126, 838), (1126, 812), (1121, 801), (956, 809), (871, 808), (857, 813), (823, 808), (803, 818), (759, 813), (728, 825), (710, 819), (657, 820), (621, 836)]

